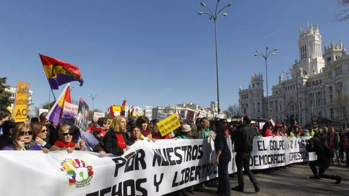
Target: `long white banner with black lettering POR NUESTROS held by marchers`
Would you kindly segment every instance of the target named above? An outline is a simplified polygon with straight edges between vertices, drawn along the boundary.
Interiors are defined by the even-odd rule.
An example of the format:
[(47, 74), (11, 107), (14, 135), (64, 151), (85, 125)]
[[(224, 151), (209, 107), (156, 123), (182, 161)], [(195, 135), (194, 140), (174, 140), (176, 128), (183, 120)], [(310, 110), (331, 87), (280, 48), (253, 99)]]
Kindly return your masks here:
[[(255, 138), (251, 169), (309, 160), (303, 145), (308, 138)], [(230, 150), (233, 173), (235, 152)], [(7, 187), (2, 195), (157, 196), (215, 178), (215, 157), (211, 138), (138, 141), (119, 157), (84, 151), (0, 151), (0, 183)]]

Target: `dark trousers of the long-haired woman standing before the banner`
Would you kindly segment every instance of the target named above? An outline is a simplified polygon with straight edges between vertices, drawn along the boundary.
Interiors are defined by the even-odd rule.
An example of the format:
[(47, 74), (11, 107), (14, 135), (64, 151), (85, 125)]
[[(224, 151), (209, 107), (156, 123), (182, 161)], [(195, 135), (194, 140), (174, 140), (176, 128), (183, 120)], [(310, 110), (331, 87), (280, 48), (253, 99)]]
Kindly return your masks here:
[(219, 162), (218, 164), (219, 184), (218, 184), (217, 192), (222, 195), (231, 194), (228, 164), (229, 162), (223, 162), (223, 163)]

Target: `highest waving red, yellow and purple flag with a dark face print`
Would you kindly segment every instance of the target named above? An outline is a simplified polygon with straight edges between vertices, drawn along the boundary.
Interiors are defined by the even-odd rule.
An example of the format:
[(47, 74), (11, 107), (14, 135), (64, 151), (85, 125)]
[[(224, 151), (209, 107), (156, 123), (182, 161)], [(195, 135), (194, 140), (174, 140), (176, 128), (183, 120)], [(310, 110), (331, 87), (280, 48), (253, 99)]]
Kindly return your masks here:
[(58, 86), (72, 81), (79, 81), (80, 86), (84, 83), (79, 67), (40, 53), (39, 56), (51, 89), (58, 90)]

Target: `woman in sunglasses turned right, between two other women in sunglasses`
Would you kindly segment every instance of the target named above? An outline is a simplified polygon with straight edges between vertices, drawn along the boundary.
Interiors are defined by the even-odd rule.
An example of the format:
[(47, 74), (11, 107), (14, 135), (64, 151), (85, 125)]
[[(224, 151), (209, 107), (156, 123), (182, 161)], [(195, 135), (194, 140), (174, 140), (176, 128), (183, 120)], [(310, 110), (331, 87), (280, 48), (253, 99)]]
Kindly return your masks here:
[(49, 150), (51, 144), (49, 143), (49, 138), (47, 137), (49, 129), (46, 125), (41, 122), (36, 122), (30, 125), (31, 130), (33, 131), (33, 138), (36, 143), (38, 143), (42, 148)]

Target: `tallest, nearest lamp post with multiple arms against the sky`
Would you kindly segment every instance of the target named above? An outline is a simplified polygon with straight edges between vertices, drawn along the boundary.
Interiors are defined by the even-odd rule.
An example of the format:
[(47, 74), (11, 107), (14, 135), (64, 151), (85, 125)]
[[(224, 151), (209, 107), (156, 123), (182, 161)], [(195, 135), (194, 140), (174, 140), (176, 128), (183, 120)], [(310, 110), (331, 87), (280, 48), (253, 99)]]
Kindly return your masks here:
[(216, 27), (216, 21), (217, 21), (217, 17), (219, 15), (223, 15), (223, 16), (228, 16), (228, 14), (225, 13), (221, 13), (221, 11), (226, 8), (226, 7), (230, 7), (233, 5), (233, 3), (229, 3), (228, 5), (224, 6), (221, 10), (219, 10), (219, 12), (217, 12), (217, 7), (218, 7), (218, 3), (220, 2), (220, 0), (217, 0), (217, 4), (216, 4), (216, 10), (215, 13), (213, 14), (213, 12), (211, 11), (210, 8), (208, 8), (206, 6), (205, 3), (201, 2), (200, 5), (203, 7), (206, 7), (210, 13), (205, 13), (205, 12), (198, 12), (198, 15), (202, 15), (202, 14), (207, 14), (209, 16), (211, 16), (209, 19), (214, 21), (215, 23), (215, 43), (216, 43), (216, 72), (217, 72), (217, 106), (218, 106), (218, 113), (221, 111), (220, 106), (219, 106), (219, 85), (218, 85), (218, 47), (217, 47), (217, 27)]

